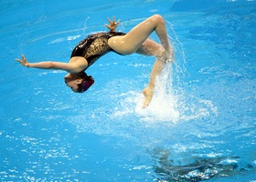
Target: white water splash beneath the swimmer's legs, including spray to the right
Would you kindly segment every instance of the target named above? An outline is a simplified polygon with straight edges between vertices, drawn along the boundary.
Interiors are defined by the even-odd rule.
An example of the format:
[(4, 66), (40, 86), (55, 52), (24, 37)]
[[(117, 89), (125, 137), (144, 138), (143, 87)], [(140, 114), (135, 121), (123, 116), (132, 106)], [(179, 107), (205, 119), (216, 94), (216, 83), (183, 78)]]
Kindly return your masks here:
[(163, 74), (156, 79), (152, 102), (146, 108), (143, 108), (144, 96), (141, 92), (128, 91), (114, 98), (119, 100), (120, 106), (115, 106), (112, 117), (135, 115), (146, 122), (177, 123), (218, 115), (218, 108), (212, 101), (200, 99), (173, 86), (172, 72), (171, 65), (165, 66)]

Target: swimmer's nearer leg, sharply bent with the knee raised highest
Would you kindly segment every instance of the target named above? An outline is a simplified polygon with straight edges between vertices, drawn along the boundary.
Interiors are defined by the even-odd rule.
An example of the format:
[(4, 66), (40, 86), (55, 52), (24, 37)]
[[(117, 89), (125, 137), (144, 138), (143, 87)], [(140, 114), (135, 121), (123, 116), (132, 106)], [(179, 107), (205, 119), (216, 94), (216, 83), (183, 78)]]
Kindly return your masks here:
[(122, 55), (130, 55), (136, 52), (154, 31), (165, 48), (165, 54), (170, 55), (172, 48), (166, 33), (165, 20), (161, 15), (150, 16), (144, 22), (133, 27), (127, 35), (113, 36), (109, 39), (108, 44), (116, 52)]

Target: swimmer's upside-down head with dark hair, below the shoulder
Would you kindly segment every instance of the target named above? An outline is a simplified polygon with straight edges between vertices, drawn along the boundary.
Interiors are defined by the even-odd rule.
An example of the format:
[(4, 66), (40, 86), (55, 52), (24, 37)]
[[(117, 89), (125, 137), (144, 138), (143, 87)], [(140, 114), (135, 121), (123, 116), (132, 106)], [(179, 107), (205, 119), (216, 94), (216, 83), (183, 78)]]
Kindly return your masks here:
[(87, 76), (85, 72), (80, 74), (68, 74), (65, 76), (65, 83), (76, 93), (83, 93), (94, 83), (92, 76)]

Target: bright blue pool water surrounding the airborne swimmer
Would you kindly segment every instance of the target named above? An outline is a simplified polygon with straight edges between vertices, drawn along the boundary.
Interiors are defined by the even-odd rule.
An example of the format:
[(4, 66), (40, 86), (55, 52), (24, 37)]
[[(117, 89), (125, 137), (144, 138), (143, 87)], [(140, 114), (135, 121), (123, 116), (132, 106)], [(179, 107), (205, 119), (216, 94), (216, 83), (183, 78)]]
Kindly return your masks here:
[[(256, 181), (254, 0), (1, 1), (1, 181)], [(63, 71), (106, 17), (163, 15), (176, 61), (141, 108), (154, 57), (101, 57), (85, 94)], [(156, 35), (151, 38), (157, 41)]]

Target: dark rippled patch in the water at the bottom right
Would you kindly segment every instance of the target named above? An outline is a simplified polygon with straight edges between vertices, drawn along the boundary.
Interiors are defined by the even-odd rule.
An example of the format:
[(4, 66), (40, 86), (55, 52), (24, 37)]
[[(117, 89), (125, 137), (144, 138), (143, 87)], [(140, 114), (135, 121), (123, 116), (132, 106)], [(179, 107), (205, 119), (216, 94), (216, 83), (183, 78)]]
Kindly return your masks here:
[(182, 159), (175, 162), (168, 149), (159, 148), (153, 151), (152, 157), (157, 181), (201, 181), (213, 177), (233, 177), (256, 170), (256, 167), (242, 161), (240, 157), (193, 157), (190, 164), (181, 165)]

